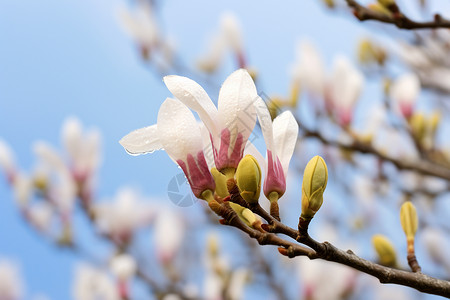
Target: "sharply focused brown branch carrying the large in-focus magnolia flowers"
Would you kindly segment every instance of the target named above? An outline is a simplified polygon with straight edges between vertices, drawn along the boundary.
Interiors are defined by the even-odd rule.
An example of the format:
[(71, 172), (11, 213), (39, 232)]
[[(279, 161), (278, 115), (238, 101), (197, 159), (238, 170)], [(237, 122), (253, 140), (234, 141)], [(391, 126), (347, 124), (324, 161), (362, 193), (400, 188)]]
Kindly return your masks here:
[[(245, 202), (236, 190), (230, 189), (230, 201), (236, 203)], [(239, 199), (240, 198), (240, 199)], [(279, 246), (279, 252), (282, 255), (290, 258), (296, 256), (306, 256), (309, 259), (324, 259), (327, 261), (336, 262), (359, 270), (363, 273), (372, 275), (380, 280), (381, 283), (392, 283), (414, 288), (418, 291), (444, 296), (450, 298), (450, 281), (445, 281), (422, 274), (421, 272), (407, 272), (403, 270), (385, 267), (368, 260), (365, 260), (351, 250), (343, 251), (329, 242), (320, 243), (311, 238), (307, 232), (309, 224), (300, 222), (299, 230), (295, 230), (285, 224), (279, 222), (269, 213), (267, 213), (259, 204), (247, 205), (254, 213), (260, 215), (268, 224), (256, 225), (251, 228), (247, 226), (237, 214), (231, 209), (227, 202), (210, 203), (210, 208), (224, 218), (222, 224), (236, 227), (251, 238), (256, 239), (261, 245), (275, 245)], [(256, 229), (255, 229), (256, 228)], [(287, 241), (282, 239), (276, 233), (284, 234), (297, 242), (302, 243), (310, 248), (305, 248), (297, 242)]]

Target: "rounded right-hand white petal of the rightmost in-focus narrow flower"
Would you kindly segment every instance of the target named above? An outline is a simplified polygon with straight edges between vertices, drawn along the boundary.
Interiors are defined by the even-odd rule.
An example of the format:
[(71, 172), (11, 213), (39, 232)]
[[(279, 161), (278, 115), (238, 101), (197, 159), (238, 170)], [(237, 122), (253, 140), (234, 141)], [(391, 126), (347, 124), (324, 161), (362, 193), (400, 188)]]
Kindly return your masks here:
[(298, 124), (290, 111), (283, 112), (273, 120), (273, 137), (276, 153), (286, 176), (298, 137)]

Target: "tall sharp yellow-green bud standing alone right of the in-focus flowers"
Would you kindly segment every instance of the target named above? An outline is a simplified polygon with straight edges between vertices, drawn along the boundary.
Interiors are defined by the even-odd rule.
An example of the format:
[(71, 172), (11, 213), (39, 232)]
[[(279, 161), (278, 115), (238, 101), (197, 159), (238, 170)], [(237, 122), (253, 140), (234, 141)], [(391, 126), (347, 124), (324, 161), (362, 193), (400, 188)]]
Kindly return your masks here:
[(311, 219), (322, 206), (328, 170), (322, 157), (314, 156), (306, 165), (302, 184), (302, 217)]

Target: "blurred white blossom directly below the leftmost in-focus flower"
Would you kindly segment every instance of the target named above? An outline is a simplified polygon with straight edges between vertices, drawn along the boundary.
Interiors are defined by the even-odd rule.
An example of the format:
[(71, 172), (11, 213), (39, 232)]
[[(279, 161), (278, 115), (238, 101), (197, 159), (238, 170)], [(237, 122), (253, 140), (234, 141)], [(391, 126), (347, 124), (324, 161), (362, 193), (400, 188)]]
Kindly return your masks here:
[(155, 247), (162, 263), (168, 263), (177, 254), (184, 237), (182, 215), (163, 208), (155, 221)]

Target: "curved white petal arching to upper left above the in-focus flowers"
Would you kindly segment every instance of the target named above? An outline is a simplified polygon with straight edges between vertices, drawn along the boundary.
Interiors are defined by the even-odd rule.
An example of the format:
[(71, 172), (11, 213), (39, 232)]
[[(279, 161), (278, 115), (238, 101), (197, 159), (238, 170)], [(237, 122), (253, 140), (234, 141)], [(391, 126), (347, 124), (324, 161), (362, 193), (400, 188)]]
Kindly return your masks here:
[(164, 83), (176, 98), (199, 115), (213, 136), (218, 136), (217, 108), (197, 82), (187, 77), (169, 75), (164, 77)]

